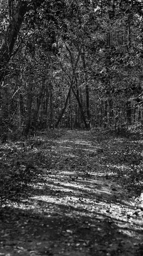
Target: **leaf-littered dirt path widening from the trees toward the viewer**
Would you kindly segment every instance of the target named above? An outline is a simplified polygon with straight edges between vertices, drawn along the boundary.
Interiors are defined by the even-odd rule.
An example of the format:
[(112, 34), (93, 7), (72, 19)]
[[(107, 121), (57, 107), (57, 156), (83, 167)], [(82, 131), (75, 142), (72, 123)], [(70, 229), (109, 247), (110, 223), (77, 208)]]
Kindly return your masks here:
[(113, 179), (99, 144), (69, 131), (40, 148), (31, 197), (2, 207), (1, 256), (143, 255), (141, 204)]

